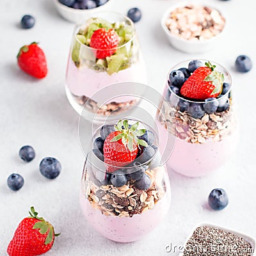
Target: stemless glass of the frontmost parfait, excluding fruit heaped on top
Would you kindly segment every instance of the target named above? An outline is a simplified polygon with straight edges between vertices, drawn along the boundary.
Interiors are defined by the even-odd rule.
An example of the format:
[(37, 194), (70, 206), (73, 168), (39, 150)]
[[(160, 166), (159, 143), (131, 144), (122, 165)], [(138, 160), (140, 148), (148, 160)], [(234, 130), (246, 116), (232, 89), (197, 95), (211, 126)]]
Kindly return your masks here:
[[(136, 120), (129, 120), (129, 124), (134, 122)], [(115, 125), (116, 122), (109, 124)], [(114, 167), (104, 163), (103, 155), (95, 144), (93, 146), (104, 127), (95, 131), (92, 138), (94, 148), (89, 150), (84, 163), (81, 209), (86, 220), (102, 236), (122, 243), (136, 241), (159, 225), (170, 207), (170, 180), (166, 166), (159, 164), (158, 136), (154, 129), (141, 122), (138, 129), (142, 127), (154, 133), (152, 147), (148, 146), (153, 150), (152, 156), (144, 162), (143, 154), (146, 153), (142, 151), (132, 163), (122, 168), (115, 167), (115, 171), (111, 169), (110, 172), (109, 168)], [(123, 186), (113, 185), (116, 175), (125, 179)], [(150, 179), (147, 188), (141, 183), (143, 175)]]

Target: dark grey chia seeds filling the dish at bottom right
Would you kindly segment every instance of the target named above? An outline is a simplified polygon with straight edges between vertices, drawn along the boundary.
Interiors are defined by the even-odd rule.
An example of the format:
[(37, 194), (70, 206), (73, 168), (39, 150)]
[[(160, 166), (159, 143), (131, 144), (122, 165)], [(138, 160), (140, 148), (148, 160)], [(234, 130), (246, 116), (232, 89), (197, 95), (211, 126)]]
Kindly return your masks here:
[(252, 256), (253, 248), (243, 237), (220, 228), (198, 227), (189, 238), (183, 256)]

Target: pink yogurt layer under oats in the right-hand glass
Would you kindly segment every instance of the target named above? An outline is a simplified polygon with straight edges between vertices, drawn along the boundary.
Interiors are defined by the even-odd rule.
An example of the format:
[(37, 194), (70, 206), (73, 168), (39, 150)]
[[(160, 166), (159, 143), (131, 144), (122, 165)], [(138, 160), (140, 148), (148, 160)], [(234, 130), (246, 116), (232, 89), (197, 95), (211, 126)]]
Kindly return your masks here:
[[(158, 121), (159, 148), (161, 153), (164, 150), (172, 152), (166, 165), (168, 170), (174, 170), (188, 177), (201, 177), (216, 170), (223, 165), (234, 153), (237, 144), (237, 129), (230, 136), (221, 141), (207, 141), (203, 144), (188, 143), (176, 137), (175, 143), (166, 145), (167, 136), (175, 140), (171, 133), (166, 134), (166, 129)], [(175, 145), (174, 145), (175, 144)], [(174, 147), (173, 147), (174, 145)]]

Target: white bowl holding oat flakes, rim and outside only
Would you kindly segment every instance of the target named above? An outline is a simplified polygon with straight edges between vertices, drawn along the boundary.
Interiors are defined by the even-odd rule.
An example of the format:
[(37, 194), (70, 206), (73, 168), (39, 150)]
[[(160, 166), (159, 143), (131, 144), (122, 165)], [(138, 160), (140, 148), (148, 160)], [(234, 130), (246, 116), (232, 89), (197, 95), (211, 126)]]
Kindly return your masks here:
[(173, 47), (175, 47), (176, 49), (178, 49), (179, 51), (182, 52), (188, 52), (188, 53), (200, 53), (200, 52), (207, 52), (209, 50), (211, 50), (214, 47), (214, 44), (216, 44), (216, 42), (218, 42), (218, 40), (220, 39), (221, 36), (223, 36), (223, 31), (225, 30), (226, 24), (227, 24), (227, 19), (226, 17), (223, 15), (222, 12), (220, 12), (220, 10), (218, 10), (218, 8), (214, 7), (214, 6), (210, 6), (208, 4), (204, 4), (204, 2), (202, 3), (195, 3), (196, 5), (200, 4), (202, 6), (207, 6), (209, 8), (212, 8), (214, 10), (217, 10), (218, 12), (221, 13), (221, 15), (223, 16), (223, 18), (225, 19), (225, 26), (223, 28), (223, 30), (216, 36), (213, 36), (210, 39), (206, 39), (206, 40), (201, 40), (201, 41), (196, 41), (196, 40), (186, 40), (180, 36), (174, 35), (165, 25), (166, 20), (168, 19), (169, 15), (171, 12), (173, 12), (173, 10), (175, 10), (178, 7), (182, 7), (182, 6), (186, 6), (189, 4), (193, 4), (193, 2), (188, 2), (188, 1), (180, 1), (177, 4), (173, 4), (170, 8), (168, 8), (166, 10), (166, 12), (164, 12), (164, 15), (161, 19), (161, 27), (163, 28), (164, 32), (166, 33), (166, 36), (170, 42), (170, 44), (173, 45)]

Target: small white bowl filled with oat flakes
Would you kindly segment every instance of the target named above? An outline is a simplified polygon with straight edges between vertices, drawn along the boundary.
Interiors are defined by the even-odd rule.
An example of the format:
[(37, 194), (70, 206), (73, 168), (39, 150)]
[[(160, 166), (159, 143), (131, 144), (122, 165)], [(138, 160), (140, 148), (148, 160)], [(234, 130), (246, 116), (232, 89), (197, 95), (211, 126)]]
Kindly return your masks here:
[(170, 44), (182, 52), (191, 53), (212, 49), (225, 24), (225, 17), (218, 10), (200, 4), (172, 6), (161, 20)]

